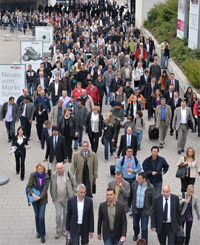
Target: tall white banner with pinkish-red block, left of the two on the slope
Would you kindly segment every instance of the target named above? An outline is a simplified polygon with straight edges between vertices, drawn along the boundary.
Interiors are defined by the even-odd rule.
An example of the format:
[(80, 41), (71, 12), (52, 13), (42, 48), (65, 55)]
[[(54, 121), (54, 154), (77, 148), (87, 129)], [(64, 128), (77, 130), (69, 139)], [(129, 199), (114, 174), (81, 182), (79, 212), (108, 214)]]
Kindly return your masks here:
[(177, 37), (187, 37), (188, 0), (178, 1)]

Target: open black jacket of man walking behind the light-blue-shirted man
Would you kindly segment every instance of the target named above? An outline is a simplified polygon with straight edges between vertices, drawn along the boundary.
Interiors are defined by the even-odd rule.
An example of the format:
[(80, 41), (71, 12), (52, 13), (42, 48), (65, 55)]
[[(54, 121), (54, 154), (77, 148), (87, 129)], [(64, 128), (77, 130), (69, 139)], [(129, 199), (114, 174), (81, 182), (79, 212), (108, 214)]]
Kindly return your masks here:
[[(117, 156), (119, 157), (120, 154), (122, 153), (122, 156), (126, 155), (126, 147), (127, 147), (127, 140), (126, 140), (126, 136), (127, 134), (124, 134), (121, 136), (121, 140), (120, 140), (120, 145), (119, 145), (119, 150), (117, 152)], [(131, 147), (133, 149), (133, 155), (136, 156), (137, 155), (137, 137), (135, 135), (131, 135)]]

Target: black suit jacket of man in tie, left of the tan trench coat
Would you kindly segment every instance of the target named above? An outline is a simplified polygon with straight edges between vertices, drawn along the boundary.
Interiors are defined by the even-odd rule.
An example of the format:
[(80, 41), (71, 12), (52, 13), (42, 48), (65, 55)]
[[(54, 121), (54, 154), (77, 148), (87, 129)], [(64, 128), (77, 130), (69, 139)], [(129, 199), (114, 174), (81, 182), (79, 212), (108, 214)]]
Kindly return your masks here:
[[(57, 162), (64, 162), (64, 159), (67, 159), (67, 150), (65, 146), (65, 138), (63, 136), (58, 135), (58, 142), (55, 150), (55, 156)], [(54, 144), (53, 144), (53, 136), (47, 138), (47, 150), (45, 159), (48, 159), (49, 162), (53, 162), (54, 158)]]

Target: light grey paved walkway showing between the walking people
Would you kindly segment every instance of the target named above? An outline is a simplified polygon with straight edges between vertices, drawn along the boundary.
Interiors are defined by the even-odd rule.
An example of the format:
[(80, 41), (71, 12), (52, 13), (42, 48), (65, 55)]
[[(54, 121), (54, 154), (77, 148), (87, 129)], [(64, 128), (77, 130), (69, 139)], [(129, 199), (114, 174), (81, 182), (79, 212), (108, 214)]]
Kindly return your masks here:
[[(1, 32), (1, 31), (0, 31)], [(1, 33), (0, 33), (1, 36)], [(10, 49), (9, 49), (10, 45)], [(14, 48), (14, 45), (17, 48)], [(5, 43), (0, 38), (0, 48), (1, 57), (0, 63), (13, 63), (19, 56), (19, 41)], [(6, 49), (5, 49), (6, 48)], [(6, 51), (5, 51), (6, 50)], [(4, 52), (3, 52), (4, 51)], [(2, 59), (6, 52), (6, 62)], [(15, 58), (16, 57), (16, 58)], [(110, 106), (104, 105), (103, 115), (105, 117), (106, 112), (110, 110)], [(144, 111), (144, 120), (146, 122), (146, 129), (144, 131), (142, 150), (138, 152), (138, 157), (140, 162), (150, 155), (150, 149), (153, 145), (158, 145), (158, 141), (150, 141), (148, 139), (148, 126), (153, 123), (147, 120), (147, 111)], [(16, 128), (19, 124), (16, 125)], [(121, 130), (120, 133), (123, 133)], [(84, 140), (88, 140), (87, 135), (84, 133)], [(165, 147), (160, 150), (160, 155), (165, 157), (169, 163), (169, 171), (164, 176), (164, 184), (169, 184), (171, 191), (174, 194), (180, 193), (180, 180), (175, 178), (176, 173), (176, 163), (180, 158), (177, 154), (176, 143), (174, 137), (167, 134)], [(13, 155), (9, 155), (10, 144), (7, 143), (7, 135), (4, 123), (0, 122), (0, 173), (5, 174), (9, 177), (9, 183), (0, 187), (0, 244), (40, 244), (40, 239), (36, 238), (35, 224), (34, 224), (34, 212), (33, 208), (27, 205), (27, 200), (25, 196), (25, 187), (28, 181), (29, 175), (33, 172), (35, 165), (44, 159), (45, 151), (40, 149), (38, 139), (36, 136), (35, 125), (32, 125), (32, 135), (30, 140), (31, 149), (27, 150), (26, 156), (26, 170), (25, 170), (25, 180), (22, 182), (19, 179), (19, 175), (15, 174), (15, 160)], [(200, 140), (197, 134), (188, 133), (186, 148), (192, 146), (196, 151), (196, 157), (200, 159)], [(113, 177), (110, 176), (109, 168), (111, 164), (114, 164), (114, 158), (110, 158), (108, 163), (104, 163), (104, 148), (100, 143), (100, 147), (97, 153), (99, 160), (99, 170), (97, 179), (97, 194), (94, 195), (94, 217), (95, 217), (95, 233), (94, 238), (90, 240), (91, 245), (103, 244), (102, 241), (97, 240), (97, 218), (98, 218), (98, 207), (99, 203), (105, 201), (106, 198), (106, 188), (107, 184)], [(70, 164), (65, 164), (67, 169), (70, 168)], [(200, 177), (197, 176), (195, 183), (195, 194), (200, 200)], [(132, 217), (127, 216), (128, 219), (128, 231), (127, 231), (127, 242), (125, 244), (131, 245), (136, 244), (133, 242), (133, 225)], [(200, 241), (200, 221), (197, 220), (196, 214), (194, 216), (194, 223), (192, 227), (191, 235), (191, 245), (198, 245)], [(54, 205), (49, 197), (49, 203), (46, 208), (46, 244), (64, 244), (65, 239), (61, 237), (60, 239), (54, 239), (55, 235), (55, 210)], [(139, 236), (140, 237), (140, 236)], [(156, 234), (150, 231), (149, 228), (149, 245), (157, 245)]]

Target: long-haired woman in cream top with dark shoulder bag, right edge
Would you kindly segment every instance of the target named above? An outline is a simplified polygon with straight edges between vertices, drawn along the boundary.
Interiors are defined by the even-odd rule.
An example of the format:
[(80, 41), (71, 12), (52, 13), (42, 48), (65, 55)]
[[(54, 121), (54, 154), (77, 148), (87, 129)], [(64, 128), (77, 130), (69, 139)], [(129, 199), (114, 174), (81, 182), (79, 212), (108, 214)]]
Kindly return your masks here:
[(189, 147), (186, 151), (186, 156), (181, 157), (177, 163), (179, 168), (183, 168), (186, 164), (187, 172), (185, 178), (181, 178), (181, 192), (186, 192), (188, 185), (194, 185), (196, 172), (200, 175), (200, 164), (195, 157), (195, 151)]

